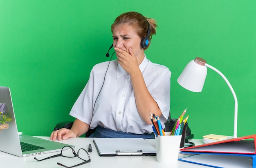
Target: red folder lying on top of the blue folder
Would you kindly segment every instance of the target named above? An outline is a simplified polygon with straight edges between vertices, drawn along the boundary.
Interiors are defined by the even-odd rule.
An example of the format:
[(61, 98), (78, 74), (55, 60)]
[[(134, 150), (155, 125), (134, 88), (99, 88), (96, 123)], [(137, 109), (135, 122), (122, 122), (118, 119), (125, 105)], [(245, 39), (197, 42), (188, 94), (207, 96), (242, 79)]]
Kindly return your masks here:
[(256, 134), (181, 149), (183, 152), (256, 154)]

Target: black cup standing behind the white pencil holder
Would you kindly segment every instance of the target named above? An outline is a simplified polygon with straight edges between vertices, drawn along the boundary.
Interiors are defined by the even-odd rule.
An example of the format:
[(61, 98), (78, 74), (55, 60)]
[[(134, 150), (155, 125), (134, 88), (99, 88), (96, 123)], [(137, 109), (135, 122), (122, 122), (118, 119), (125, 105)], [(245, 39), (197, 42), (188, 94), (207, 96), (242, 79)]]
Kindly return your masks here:
[[(171, 132), (173, 130), (173, 127), (175, 126), (175, 123), (177, 122), (177, 119), (168, 119), (164, 125), (165, 125), (165, 131), (166, 132)], [(184, 144), (185, 144), (185, 139), (186, 139), (186, 130), (188, 127), (188, 123), (186, 122), (186, 124), (184, 125), (183, 129), (182, 129), (182, 139), (180, 141), (180, 148), (184, 148)]]

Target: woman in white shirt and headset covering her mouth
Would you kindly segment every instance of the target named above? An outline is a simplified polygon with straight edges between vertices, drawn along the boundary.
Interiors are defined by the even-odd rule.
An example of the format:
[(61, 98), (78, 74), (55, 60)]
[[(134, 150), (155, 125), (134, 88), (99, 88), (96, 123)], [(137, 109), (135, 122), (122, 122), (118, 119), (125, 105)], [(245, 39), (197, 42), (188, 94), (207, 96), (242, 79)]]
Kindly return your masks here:
[[(150, 62), (144, 51), (156, 33), (154, 19), (137, 12), (119, 15), (111, 26), (117, 59), (94, 65), (70, 115), (72, 128), (52, 132), (51, 140), (79, 137), (154, 138), (149, 111), (162, 126), (170, 110), (171, 72)], [(157, 55), (156, 55), (157, 57)]]

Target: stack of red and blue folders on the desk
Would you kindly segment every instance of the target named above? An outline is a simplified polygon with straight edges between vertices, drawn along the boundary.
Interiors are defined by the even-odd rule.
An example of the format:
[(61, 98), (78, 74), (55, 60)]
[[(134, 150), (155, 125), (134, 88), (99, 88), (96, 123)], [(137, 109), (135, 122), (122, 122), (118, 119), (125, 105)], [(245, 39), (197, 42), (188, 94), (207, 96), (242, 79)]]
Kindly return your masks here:
[(180, 158), (216, 168), (256, 168), (256, 134), (181, 149), (189, 154)]

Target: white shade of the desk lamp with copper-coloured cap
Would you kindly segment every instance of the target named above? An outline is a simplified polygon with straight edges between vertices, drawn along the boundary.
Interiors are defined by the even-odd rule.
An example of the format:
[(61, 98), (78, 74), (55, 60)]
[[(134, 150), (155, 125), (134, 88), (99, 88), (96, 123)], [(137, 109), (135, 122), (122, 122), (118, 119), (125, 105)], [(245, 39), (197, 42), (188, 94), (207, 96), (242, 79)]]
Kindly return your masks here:
[(199, 57), (190, 61), (177, 79), (178, 83), (192, 92), (202, 92), (207, 75), (205, 63), (206, 61)]

